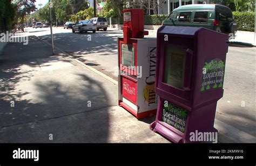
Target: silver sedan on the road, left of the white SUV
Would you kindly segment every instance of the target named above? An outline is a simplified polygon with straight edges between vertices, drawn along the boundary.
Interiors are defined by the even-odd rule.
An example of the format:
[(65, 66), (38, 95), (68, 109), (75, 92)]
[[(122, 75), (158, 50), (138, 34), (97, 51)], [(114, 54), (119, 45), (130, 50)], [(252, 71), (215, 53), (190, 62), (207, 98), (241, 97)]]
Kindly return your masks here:
[(79, 33), (87, 32), (87, 31), (92, 31), (95, 33), (97, 30), (96, 24), (93, 24), (89, 20), (80, 20), (77, 21), (76, 25), (72, 26), (72, 32), (75, 33), (78, 31)]

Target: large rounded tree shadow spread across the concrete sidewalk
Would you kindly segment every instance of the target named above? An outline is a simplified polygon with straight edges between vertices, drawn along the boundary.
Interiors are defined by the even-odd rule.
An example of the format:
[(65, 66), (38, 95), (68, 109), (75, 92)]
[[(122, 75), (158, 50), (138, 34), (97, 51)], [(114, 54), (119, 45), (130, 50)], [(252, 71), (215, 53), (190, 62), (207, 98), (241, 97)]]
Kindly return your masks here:
[[(20, 55), (16, 50), (15, 55), (31, 57), (27, 54), (33, 54), (39, 47), (48, 50), (47, 45), (43, 47), (37, 42), (31, 41), (31, 52)], [(62, 69), (61, 74), (60, 71), (39, 70), (33, 61), (35, 57), (16, 61), (18, 57), (11, 55), (14, 54), (11, 52), (14, 45), (25, 50), (22, 44), (8, 44), (3, 52), (5, 61), (0, 64), (0, 142), (107, 142), (107, 107), (113, 106), (112, 97), (106, 92), (107, 85), (76, 67), (72, 72), (71, 68)], [(49, 61), (42, 60), (42, 66), (44, 63)], [(49, 139), (51, 134), (52, 140)]]

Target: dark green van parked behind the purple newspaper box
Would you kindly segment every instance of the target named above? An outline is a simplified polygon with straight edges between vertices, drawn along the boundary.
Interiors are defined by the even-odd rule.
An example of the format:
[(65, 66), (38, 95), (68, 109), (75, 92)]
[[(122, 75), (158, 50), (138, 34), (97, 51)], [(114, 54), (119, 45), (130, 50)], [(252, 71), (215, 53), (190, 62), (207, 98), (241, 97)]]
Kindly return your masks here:
[(218, 4), (179, 6), (163, 21), (163, 25), (205, 27), (221, 33), (233, 33), (233, 37), (238, 30), (231, 9)]

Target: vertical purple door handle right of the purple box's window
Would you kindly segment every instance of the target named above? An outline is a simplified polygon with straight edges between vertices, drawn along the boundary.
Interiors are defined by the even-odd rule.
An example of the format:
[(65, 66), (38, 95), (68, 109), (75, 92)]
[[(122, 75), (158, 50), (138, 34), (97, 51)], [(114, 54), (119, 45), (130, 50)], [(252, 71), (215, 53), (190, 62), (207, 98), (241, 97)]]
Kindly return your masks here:
[(184, 90), (191, 90), (191, 75), (192, 75), (192, 60), (193, 60), (193, 51), (187, 49), (186, 52), (186, 62), (185, 62), (185, 71), (184, 71)]

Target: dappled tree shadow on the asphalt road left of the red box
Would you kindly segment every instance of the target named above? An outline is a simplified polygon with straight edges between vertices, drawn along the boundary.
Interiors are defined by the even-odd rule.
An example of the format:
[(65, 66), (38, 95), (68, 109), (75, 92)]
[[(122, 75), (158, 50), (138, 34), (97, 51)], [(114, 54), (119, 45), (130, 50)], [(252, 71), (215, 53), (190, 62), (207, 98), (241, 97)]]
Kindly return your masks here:
[[(114, 31), (97, 31), (96, 33), (56, 33), (56, 45), (66, 53), (74, 57), (81, 57), (87, 54), (97, 54), (100, 56), (117, 54), (117, 37), (123, 33)], [(89, 36), (90, 35), (90, 36)], [(50, 35), (40, 38), (50, 42)], [(72, 44), (75, 42), (76, 44)]]

